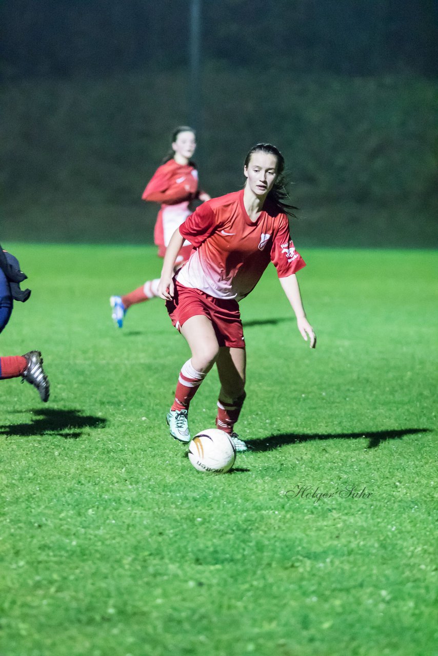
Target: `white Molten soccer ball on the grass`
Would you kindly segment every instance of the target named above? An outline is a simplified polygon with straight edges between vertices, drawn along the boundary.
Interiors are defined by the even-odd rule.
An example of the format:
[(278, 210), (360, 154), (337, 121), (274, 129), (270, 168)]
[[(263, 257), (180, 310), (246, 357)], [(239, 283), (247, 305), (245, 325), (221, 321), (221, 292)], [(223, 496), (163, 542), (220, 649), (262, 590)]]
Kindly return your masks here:
[(228, 433), (208, 428), (195, 435), (188, 445), (188, 459), (199, 472), (225, 474), (236, 460), (236, 447)]

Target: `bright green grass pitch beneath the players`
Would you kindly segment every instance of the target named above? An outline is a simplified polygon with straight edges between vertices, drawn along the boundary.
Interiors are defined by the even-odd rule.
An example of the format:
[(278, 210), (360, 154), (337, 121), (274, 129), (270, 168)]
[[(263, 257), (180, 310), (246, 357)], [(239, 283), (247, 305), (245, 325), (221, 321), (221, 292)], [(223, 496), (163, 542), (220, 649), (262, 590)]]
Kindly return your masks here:
[(162, 302), (110, 319), (154, 247), (5, 247), (33, 291), (1, 354), (39, 348), (51, 399), (0, 383), (1, 656), (438, 653), (435, 253), (301, 249), (315, 351), (268, 270), (241, 304), (253, 451), (208, 476), (167, 434), (188, 348)]

